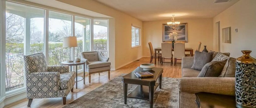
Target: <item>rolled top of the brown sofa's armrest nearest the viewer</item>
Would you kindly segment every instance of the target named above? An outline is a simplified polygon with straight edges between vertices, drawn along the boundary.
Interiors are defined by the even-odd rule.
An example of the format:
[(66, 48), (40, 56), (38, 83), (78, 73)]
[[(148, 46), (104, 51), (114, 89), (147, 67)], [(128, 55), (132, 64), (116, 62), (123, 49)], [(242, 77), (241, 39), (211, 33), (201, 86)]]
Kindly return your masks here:
[(179, 91), (187, 93), (207, 92), (220, 95), (235, 95), (235, 78), (200, 77), (180, 78)]

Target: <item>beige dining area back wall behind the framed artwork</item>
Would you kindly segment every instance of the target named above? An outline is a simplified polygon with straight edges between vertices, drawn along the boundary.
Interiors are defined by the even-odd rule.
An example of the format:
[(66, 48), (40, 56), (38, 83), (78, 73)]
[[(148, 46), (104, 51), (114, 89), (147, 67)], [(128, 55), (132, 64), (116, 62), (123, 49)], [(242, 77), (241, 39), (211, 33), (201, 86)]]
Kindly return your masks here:
[[(143, 57), (150, 57), (148, 42), (153, 44), (153, 48), (161, 47), (162, 43), (162, 24), (166, 24), (170, 20), (162, 21), (146, 21), (143, 22)], [(212, 19), (176, 19), (181, 23), (188, 23), (188, 42), (185, 47), (193, 48), (194, 51), (202, 42), (203, 46), (207, 46), (207, 50), (213, 49), (212, 43)]]

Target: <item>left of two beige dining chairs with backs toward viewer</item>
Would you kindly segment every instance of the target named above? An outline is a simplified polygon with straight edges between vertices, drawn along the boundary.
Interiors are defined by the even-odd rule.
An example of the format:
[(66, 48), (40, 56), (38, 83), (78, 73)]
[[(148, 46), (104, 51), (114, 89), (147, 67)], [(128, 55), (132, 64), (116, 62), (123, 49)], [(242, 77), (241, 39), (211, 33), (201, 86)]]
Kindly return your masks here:
[(171, 63), (172, 65), (172, 43), (164, 42), (161, 44), (161, 47), (162, 47), (162, 51), (161, 51), (162, 65), (165, 59), (171, 59), (171, 62), (167, 62), (167, 63)]

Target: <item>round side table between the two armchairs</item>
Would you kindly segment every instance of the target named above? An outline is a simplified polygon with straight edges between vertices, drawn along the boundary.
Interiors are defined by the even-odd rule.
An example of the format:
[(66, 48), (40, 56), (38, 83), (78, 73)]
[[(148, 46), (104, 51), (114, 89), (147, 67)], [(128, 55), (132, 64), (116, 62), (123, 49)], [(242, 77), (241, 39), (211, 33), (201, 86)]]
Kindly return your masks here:
[[(75, 80), (75, 82), (76, 82), (76, 89), (77, 89), (77, 82), (84, 79), (83, 77), (78, 77), (77, 76), (77, 66), (78, 65), (84, 65), (84, 69), (85, 69), (85, 61), (80, 61), (80, 62), (75, 62), (75, 61), (74, 62), (67, 62), (67, 61), (65, 61), (65, 62), (61, 62), (61, 65), (70, 66), (70, 72), (72, 71), (72, 66), (76, 66), (76, 80)], [(84, 70), (84, 77), (85, 77), (85, 70)], [(79, 78), (79, 80), (78, 80), (78, 78)], [(85, 84), (85, 80), (84, 80), (84, 84)]]

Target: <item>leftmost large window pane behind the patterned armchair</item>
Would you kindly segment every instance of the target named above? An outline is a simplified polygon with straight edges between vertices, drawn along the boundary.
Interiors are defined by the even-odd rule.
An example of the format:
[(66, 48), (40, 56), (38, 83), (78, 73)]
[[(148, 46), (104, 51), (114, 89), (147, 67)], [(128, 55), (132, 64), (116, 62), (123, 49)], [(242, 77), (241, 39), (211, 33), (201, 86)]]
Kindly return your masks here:
[(6, 3), (6, 92), (24, 87), (23, 56), (43, 52), (44, 10)]

